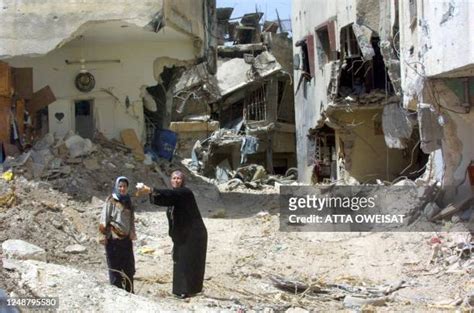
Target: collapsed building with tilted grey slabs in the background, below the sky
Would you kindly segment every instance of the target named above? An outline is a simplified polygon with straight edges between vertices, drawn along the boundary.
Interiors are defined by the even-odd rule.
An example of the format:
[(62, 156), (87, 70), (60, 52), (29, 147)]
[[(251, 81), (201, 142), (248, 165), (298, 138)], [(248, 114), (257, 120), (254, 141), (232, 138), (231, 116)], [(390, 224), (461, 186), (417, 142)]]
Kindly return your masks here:
[(195, 66), (174, 86), (178, 154), (206, 176), (223, 170), (224, 181), (247, 164), (285, 174), (296, 165), (291, 39), (263, 13), (231, 14), (217, 9), (216, 74)]

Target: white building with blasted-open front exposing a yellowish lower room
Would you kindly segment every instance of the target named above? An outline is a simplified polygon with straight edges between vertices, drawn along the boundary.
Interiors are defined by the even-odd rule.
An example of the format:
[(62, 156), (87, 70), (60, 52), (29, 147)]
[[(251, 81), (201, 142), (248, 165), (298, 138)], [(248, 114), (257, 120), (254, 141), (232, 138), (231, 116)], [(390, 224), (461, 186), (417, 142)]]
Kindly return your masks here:
[[(293, 1), (298, 174), (371, 183), (422, 174), (428, 156), (402, 108), (390, 1)], [(394, 5), (392, 5), (393, 7)]]

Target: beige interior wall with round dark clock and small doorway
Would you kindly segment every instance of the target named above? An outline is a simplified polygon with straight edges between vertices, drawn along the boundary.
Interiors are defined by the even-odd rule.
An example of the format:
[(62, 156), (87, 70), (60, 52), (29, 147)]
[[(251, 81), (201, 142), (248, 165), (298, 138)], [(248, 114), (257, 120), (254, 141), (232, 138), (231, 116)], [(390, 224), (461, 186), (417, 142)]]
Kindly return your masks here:
[[(143, 139), (145, 126), (140, 87), (156, 85), (154, 61), (164, 56), (192, 60), (195, 58), (193, 52), (191, 40), (107, 44), (88, 44), (85, 41), (77, 46), (66, 44), (45, 56), (15, 57), (8, 63), (15, 67), (33, 68), (34, 90), (46, 85), (51, 87), (57, 100), (48, 108), (49, 130), (56, 136), (63, 136), (70, 130), (80, 132), (87, 129), (84, 120), (87, 125), (87, 119), (90, 119), (93, 127), (108, 138), (118, 139), (121, 130), (133, 128)], [(81, 59), (119, 62), (66, 63), (66, 60)], [(94, 80), (89, 91), (81, 91), (77, 86), (76, 77), (81, 70), (90, 73)], [(86, 77), (85, 89), (90, 87), (87, 83)]]

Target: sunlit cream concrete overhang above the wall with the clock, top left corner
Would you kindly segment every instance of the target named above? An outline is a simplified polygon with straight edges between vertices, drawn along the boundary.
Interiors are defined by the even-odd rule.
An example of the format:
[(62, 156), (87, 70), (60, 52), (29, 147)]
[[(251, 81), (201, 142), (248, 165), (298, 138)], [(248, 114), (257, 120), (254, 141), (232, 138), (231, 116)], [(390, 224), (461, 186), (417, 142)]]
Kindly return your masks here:
[(2, 6), (0, 18), (9, 22), (0, 29), (0, 56), (7, 57), (46, 54), (68, 38), (80, 35), (85, 25), (123, 19), (143, 28), (162, 10), (163, 2), (125, 0), (115, 3), (113, 9), (110, 3), (92, 0), (80, 3), (6, 1)]

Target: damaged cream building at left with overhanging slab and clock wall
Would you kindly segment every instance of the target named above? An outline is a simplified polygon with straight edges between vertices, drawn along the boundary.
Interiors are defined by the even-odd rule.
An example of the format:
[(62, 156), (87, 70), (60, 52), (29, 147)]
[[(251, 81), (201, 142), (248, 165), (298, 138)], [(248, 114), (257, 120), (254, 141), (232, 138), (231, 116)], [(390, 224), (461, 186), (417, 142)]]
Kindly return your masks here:
[(0, 16), (5, 144), (22, 143), (28, 112), (37, 137), (101, 133), (143, 147), (169, 127), (173, 79), (196, 64), (216, 70), (214, 0), (7, 1)]

